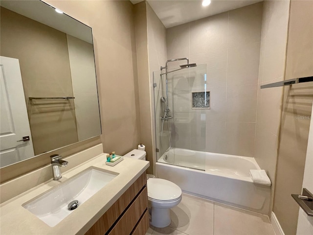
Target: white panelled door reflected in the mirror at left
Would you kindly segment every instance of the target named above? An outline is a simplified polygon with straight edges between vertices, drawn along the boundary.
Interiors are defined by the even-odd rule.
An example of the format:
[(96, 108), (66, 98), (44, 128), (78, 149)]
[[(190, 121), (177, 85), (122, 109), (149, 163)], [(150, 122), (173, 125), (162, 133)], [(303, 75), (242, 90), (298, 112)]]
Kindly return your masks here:
[(0, 80), (0, 167), (3, 167), (33, 157), (34, 149), (18, 59), (0, 57)]

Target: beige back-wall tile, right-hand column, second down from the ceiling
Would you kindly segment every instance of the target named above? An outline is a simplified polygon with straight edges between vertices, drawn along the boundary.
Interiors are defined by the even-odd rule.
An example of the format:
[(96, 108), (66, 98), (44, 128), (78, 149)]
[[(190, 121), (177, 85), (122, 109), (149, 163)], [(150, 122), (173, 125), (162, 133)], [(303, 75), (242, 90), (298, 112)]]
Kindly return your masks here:
[(227, 86), (258, 83), (260, 43), (228, 49)]

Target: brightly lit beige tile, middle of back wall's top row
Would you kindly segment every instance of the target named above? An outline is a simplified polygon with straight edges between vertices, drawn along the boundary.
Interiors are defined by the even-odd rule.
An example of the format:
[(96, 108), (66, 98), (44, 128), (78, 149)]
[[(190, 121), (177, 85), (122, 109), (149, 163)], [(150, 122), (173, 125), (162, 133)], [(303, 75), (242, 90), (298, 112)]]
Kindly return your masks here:
[(190, 54), (227, 48), (228, 12), (189, 23)]

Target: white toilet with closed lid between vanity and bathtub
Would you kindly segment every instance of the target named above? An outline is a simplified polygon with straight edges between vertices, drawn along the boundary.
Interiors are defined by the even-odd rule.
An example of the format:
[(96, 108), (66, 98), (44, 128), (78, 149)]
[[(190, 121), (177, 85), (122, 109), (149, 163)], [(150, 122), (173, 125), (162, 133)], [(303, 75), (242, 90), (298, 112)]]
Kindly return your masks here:
[[(146, 160), (146, 152), (134, 149), (124, 157)], [(170, 208), (177, 206), (181, 201), (181, 189), (168, 180), (147, 178), (148, 201), (151, 205), (150, 224), (164, 228), (171, 223)]]

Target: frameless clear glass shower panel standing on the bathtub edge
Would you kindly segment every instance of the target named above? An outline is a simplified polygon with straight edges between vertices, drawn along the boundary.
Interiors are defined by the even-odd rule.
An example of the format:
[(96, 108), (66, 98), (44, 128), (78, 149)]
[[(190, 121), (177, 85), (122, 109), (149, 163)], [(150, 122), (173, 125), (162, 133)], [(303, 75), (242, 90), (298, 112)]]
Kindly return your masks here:
[[(154, 72), (157, 161), (204, 170), (206, 110), (210, 101), (206, 65), (169, 72), (168, 97), (165, 74), (160, 74), (161, 71)], [(162, 120), (167, 99), (171, 119)]]

